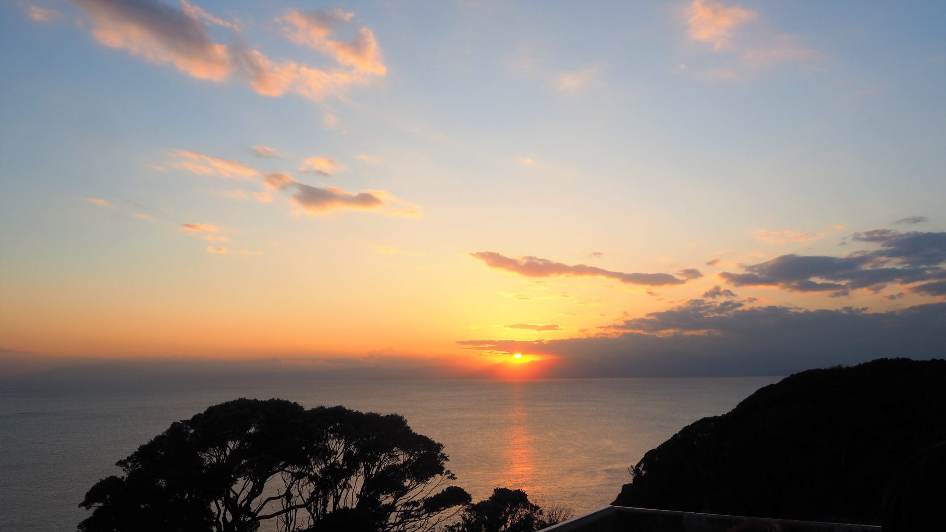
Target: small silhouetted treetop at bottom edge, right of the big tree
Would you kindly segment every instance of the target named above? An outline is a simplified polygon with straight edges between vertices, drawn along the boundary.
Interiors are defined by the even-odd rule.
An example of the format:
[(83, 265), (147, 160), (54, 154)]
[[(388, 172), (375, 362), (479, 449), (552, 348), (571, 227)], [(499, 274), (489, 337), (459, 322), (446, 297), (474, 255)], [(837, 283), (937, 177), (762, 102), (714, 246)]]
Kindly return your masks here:
[[(557, 506), (556, 506), (557, 508)], [(464, 508), (460, 521), (447, 526), (447, 532), (535, 532), (552, 524), (570, 510), (556, 509), (552, 519), (543, 518), (542, 508), (529, 502), (521, 489), (496, 488), (489, 499)], [(569, 519), (569, 517), (565, 517)]]

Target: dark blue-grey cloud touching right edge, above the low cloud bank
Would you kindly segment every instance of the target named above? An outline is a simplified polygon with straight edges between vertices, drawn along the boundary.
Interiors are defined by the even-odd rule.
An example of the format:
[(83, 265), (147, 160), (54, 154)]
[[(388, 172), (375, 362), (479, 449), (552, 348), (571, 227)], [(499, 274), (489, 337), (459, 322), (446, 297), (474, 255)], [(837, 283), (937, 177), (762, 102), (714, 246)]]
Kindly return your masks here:
[(856, 289), (877, 293), (888, 283), (906, 285), (946, 278), (946, 233), (875, 229), (854, 233), (851, 240), (874, 244), (878, 249), (842, 257), (782, 255), (743, 266), (744, 273), (723, 272), (719, 276), (733, 286), (834, 295)]

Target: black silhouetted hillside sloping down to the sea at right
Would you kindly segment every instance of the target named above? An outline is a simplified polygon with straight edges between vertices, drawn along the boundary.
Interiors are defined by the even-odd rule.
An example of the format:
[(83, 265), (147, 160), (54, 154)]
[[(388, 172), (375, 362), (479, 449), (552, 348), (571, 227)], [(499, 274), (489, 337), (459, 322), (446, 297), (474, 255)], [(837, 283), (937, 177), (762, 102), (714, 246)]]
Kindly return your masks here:
[(615, 505), (879, 523), (891, 474), (946, 440), (946, 361), (797, 373), (644, 454)]

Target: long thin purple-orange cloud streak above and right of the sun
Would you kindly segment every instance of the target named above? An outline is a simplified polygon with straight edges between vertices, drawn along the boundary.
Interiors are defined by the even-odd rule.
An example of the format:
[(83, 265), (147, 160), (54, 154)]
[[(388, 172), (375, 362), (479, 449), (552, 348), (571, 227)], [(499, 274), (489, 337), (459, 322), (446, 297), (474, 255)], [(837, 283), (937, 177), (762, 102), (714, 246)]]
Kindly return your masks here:
[[(610, 272), (586, 264), (576, 264), (569, 266), (561, 262), (554, 262), (547, 258), (539, 257), (504, 257), (499, 253), (492, 251), (481, 251), (469, 254), (470, 257), (478, 258), (486, 263), (486, 266), (496, 269), (513, 272), (527, 277), (548, 277), (557, 275), (566, 275), (573, 277), (598, 276), (615, 279), (622, 283), (663, 286), (683, 284), (687, 282), (686, 278), (679, 279), (670, 274), (623, 274), (621, 272)], [(685, 272), (695, 272), (695, 270), (684, 270)]]

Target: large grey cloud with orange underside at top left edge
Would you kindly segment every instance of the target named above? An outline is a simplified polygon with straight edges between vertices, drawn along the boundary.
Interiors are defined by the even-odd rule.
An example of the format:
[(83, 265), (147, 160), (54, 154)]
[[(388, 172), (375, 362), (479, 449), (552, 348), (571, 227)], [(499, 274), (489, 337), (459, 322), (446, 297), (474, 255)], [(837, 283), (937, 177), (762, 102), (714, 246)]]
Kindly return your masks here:
[(153, 0), (76, 0), (99, 44), (145, 61), (173, 64), (188, 76), (223, 81), (234, 72), (230, 49), (210, 40), (201, 22)]

